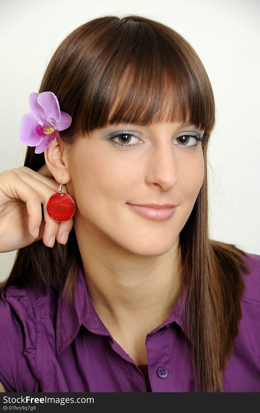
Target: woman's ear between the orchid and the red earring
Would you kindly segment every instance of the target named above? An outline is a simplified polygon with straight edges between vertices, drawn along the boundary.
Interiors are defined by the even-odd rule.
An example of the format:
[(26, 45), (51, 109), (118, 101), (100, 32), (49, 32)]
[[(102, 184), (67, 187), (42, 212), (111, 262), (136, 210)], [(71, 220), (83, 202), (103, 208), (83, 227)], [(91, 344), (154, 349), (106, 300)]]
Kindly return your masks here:
[(44, 151), (44, 157), (47, 169), (52, 176), (57, 182), (60, 182), (63, 175), (62, 183), (66, 184), (71, 177), (66, 163), (66, 145), (61, 140), (59, 133)]

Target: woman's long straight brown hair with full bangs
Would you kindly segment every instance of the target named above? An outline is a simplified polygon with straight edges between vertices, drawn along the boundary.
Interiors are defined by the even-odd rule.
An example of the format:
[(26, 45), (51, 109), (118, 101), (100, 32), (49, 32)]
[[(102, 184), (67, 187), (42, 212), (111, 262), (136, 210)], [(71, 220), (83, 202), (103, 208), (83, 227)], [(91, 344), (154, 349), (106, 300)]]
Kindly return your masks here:
[[(242, 316), (241, 270), (249, 273), (249, 268), (241, 256), (246, 252), (209, 239), (207, 148), (215, 125), (215, 102), (201, 60), (180, 34), (157, 21), (137, 15), (104, 16), (81, 25), (63, 40), (43, 76), (39, 93), (43, 91), (52, 91), (61, 110), (72, 117), (71, 126), (60, 132), (67, 144), (77, 134), (84, 136), (117, 122), (191, 120), (205, 129), (204, 181), (180, 232), (179, 298), (188, 286), (186, 330), (196, 392), (222, 392), (222, 370)], [(27, 148), (24, 166), (37, 171), (45, 158), (34, 150)], [(71, 305), (80, 261), (72, 228), (66, 245), (56, 242), (48, 248), (40, 240), (18, 250), (1, 289), (35, 282), (48, 288), (56, 283)]]

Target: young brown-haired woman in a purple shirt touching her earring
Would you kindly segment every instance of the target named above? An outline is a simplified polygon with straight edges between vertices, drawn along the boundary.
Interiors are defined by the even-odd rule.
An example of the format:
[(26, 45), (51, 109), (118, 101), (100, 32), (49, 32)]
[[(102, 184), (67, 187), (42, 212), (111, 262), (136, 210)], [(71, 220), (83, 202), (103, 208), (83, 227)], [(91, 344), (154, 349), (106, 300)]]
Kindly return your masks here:
[[(58, 47), (44, 92), (71, 125), (0, 174), (0, 251), (18, 250), (2, 391), (260, 391), (260, 256), (209, 238), (215, 103), (194, 49), (157, 21), (100, 17)], [(76, 210), (59, 223), (61, 183)]]

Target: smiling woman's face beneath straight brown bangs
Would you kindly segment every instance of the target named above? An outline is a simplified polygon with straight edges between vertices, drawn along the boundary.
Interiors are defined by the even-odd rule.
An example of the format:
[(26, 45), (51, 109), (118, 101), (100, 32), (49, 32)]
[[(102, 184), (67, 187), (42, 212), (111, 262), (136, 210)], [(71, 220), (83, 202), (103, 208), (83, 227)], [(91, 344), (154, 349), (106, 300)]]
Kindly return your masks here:
[[(77, 237), (97, 236), (104, 245), (112, 242), (137, 255), (168, 252), (203, 183), (203, 152), (196, 140), (203, 132), (182, 123), (120, 123), (78, 138), (66, 159)], [(137, 214), (129, 203), (177, 207), (170, 218), (154, 221)]]

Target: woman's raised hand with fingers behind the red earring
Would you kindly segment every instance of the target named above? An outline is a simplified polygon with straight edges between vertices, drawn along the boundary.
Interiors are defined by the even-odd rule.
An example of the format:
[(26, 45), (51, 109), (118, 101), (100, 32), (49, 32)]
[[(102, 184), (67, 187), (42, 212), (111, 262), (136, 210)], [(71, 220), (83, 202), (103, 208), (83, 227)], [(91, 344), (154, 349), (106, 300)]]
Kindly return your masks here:
[[(43, 240), (47, 247), (53, 247), (55, 237), (60, 244), (66, 244), (67, 237), (65, 235), (63, 239), (62, 234), (68, 231), (69, 235), (73, 217), (59, 223), (48, 216), (47, 200), (59, 188), (59, 183), (51, 176), (46, 164), (37, 172), (20, 166), (0, 173), (0, 252), (15, 251), (39, 240)], [(64, 184), (62, 192), (68, 193)], [(33, 235), (37, 227), (40, 231), (35, 239)]]

